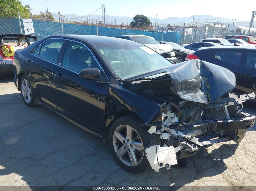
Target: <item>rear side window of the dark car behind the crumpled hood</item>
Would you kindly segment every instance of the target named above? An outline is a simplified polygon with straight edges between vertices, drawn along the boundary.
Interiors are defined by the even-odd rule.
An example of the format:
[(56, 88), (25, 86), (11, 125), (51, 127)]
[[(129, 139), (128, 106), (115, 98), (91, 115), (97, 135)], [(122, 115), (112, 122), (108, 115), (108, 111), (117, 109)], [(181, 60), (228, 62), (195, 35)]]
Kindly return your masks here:
[(215, 59), (219, 59), (222, 62), (233, 64), (233, 65), (239, 65), (242, 52), (239, 51), (212, 51), (210, 53), (211, 56), (213, 56)]

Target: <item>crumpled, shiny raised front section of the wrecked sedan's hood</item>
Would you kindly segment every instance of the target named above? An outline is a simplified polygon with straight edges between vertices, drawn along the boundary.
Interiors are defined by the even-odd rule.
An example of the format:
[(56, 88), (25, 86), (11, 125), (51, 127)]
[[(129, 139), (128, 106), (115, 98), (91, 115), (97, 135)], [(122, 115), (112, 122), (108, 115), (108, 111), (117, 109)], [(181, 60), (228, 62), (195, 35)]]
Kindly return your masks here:
[(194, 102), (213, 103), (236, 84), (233, 72), (203, 60), (193, 59), (165, 69), (171, 76), (171, 90)]

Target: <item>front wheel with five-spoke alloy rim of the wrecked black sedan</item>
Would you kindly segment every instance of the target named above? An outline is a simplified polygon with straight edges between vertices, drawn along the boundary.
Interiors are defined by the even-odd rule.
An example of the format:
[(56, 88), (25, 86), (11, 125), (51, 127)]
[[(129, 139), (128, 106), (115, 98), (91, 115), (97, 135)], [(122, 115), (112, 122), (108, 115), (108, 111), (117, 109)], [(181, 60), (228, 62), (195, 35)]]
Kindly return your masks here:
[(145, 128), (135, 117), (122, 116), (114, 121), (109, 131), (109, 144), (115, 161), (128, 172), (141, 173), (148, 169), (149, 162), (144, 151), (151, 140)]

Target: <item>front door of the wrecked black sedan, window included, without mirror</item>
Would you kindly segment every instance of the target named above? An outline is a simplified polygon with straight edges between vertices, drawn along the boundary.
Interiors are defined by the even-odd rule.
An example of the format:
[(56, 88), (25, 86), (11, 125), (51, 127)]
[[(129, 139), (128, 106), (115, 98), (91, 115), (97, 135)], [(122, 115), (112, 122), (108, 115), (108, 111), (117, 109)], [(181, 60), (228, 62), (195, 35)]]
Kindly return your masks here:
[(79, 77), (79, 72), (86, 68), (98, 68), (101, 78), (107, 78), (87, 46), (68, 41), (55, 78), (57, 111), (102, 134), (109, 83)]

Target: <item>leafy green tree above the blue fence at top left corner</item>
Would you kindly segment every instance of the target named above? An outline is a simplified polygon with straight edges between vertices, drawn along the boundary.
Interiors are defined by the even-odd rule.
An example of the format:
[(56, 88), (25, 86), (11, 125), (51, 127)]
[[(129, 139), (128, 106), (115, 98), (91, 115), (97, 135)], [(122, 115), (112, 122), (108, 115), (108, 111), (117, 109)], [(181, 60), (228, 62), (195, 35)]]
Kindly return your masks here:
[(29, 18), (29, 8), (29, 5), (23, 6), (19, 0), (0, 0), (0, 17), (18, 18), (19, 12), (21, 18)]

